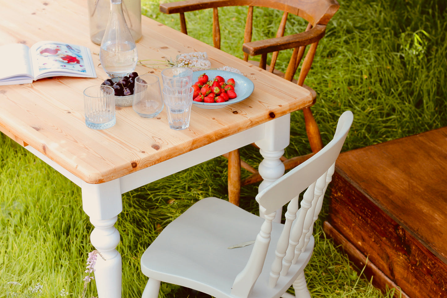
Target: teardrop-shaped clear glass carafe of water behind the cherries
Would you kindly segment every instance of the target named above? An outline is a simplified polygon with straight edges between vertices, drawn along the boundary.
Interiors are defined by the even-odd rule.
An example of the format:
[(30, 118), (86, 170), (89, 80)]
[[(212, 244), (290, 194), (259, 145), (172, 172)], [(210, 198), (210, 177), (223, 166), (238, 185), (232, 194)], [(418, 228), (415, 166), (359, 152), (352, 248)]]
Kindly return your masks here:
[(110, 0), (110, 17), (99, 50), (101, 66), (109, 77), (124, 77), (133, 72), (137, 48), (122, 13), (122, 0)]

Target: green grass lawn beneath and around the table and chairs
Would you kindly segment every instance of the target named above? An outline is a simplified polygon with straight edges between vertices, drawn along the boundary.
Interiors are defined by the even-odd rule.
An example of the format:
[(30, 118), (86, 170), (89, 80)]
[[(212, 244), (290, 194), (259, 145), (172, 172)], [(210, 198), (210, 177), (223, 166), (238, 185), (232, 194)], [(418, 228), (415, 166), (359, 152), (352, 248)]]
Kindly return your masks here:
[[(343, 151), (425, 132), (447, 125), (447, 11), (445, 0), (340, 0), (340, 10), (329, 22), (306, 84), (316, 90), (312, 111), (326, 144), (343, 111), (354, 113), (354, 123)], [(142, 0), (143, 12), (180, 29), (178, 15), (158, 12), (158, 1)], [(221, 10), (222, 49), (242, 57), (246, 9)], [(255, 10), (265, 22), (253, 34), (273, 37), (278, 12)], [(211, 11), (186, 14), (190, 35), (212, 44), (202, 27), (211, 24)], [(290, 16), (290, 31), (304, 23)], [(211, 28), (207, 25), (204, 28)], [(284, 51), (281, 55), (290, 55)], [(144, 57), (140, 57), (144, 59)], [(281, 66), (283, 70), (285, 65)], [(286, 156), (310, 152), (301, 112), (292, 114), (291, 145)], [(241, 149), (257, 165), (255, 149)], [(219, 170), (215, 170), (219, 169)], [(248, 172), (243, 172), (248, 176)], [(228, 199), (227, 161), (215, 158), (123, 195), (118, 216), (123, 262), (122, 297), (140, 297), (146, 277), (139, 258), (166, 226), (195, 201), (217, 196)], [(241, 206), (256, 212), (256, 186), (242, 189)], [(172, 200), (174, 199), (174, 200)], [(326, 202), (327, 203), (327, 202)], [(327, 206), (327, 204), (325, 205)], [(316, 222), (316, 248), (306, 268), (312, 297), (391, 297), (381, 294), (359, 276), (346, 256), (325, 238)], [(42, 297), (56, 297), (64, 289), (72, 297), (82, 292), (84, 264), (93, 250), (92, 225), (82, 211), (80, 188), (0, 134), (0, 298), (8, 291), (28, 293), (40, 283)], [(15, 281), (20, 285), (10, 285)], [(190, 292), (162, 285), (163, 297), (187, 297)], [(88, 297), (96, 296), (94, 284)]]

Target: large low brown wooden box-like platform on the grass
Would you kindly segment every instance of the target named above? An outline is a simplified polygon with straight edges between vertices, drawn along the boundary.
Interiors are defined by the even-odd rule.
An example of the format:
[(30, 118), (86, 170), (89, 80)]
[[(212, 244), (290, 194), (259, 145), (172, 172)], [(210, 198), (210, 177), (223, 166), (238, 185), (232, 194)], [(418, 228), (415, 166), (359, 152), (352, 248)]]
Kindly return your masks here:
[(342, 153), (325, 233), (380, 289), (447, 297), (446, 174), (447, 127)]

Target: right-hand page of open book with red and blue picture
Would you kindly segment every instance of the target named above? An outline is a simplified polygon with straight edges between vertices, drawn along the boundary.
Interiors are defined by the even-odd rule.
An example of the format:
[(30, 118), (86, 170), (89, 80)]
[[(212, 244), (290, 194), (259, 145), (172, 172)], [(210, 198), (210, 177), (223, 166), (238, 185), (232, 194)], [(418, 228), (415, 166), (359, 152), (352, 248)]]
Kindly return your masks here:
[[(71, 76), (96, 77), (93, 64), (89, 65), (91, 55), (85, 47), (42, 41), (31, 47), (35, 80), (43, 77)], [(87, 49), (88, 50), (88, 49)]]

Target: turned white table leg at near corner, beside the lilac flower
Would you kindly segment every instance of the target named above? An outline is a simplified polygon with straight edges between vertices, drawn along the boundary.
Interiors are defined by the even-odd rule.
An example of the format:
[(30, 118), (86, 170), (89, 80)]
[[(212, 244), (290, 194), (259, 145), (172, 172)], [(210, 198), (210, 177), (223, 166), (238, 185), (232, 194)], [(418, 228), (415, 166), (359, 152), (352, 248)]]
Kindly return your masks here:
[(105, 258), (98, 256), (95, 265), (98, 298), (121, 298), (122, 263), (116, 250), (120, 236), (114, 227), (122, 211), (119, 179), (101, 184), (82, 183), (82, 205), (95, 226), (90, 240)]

